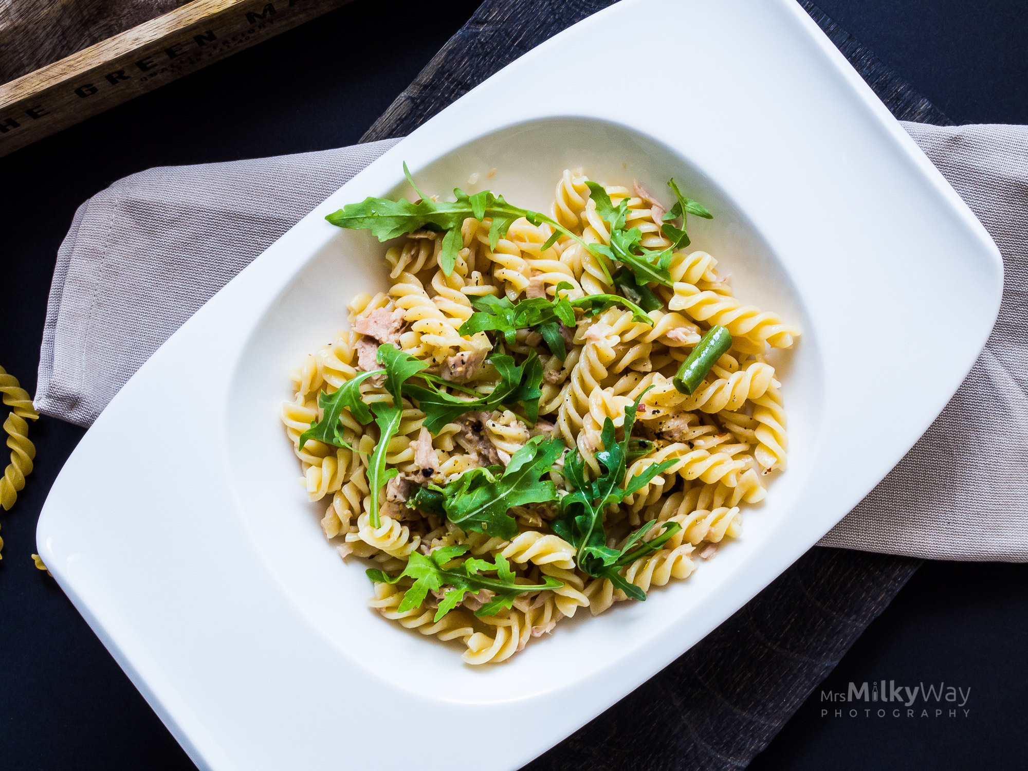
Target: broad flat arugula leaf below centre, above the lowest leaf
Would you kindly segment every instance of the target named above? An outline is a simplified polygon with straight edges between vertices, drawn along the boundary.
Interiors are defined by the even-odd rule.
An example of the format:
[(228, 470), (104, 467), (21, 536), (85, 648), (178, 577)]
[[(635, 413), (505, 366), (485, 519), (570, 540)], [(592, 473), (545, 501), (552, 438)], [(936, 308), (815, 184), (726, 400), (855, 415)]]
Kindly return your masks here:
[(481, 468), (466, 471), (445, 487), (437, 488), (443, 495), (446, 518), (464, 530), (514, 538), (517, 522), (507, 512), (515, 506), (556, 500), (553, 482), (540, 477), (550, 471), (563, 448), (559, 439), (533, 437), (511, 455), (503, 474)]

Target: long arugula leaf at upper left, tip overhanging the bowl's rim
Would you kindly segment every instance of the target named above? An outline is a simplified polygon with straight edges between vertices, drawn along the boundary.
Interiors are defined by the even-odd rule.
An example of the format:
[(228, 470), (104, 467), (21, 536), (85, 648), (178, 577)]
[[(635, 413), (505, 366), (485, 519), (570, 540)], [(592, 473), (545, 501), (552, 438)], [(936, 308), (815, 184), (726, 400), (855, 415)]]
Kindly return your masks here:
[[(421, 196), (416, 203), (411, 204), (406, 198), (390, 200), (389, 198), (369, 196), (360, 204), (347, 204), (342, 209), (327, 215), (325, 219), (337, 227), (370, 230), (371, 234), (378, 241), (389, 241), (420, 230), (424, 227), (437, 232), (445, 232), (442, 251), (439, 255), (439, 265), (446, 276), (453, 271), (457, 252), (462, 245), (461, 226), (469, 217), (474, 217), (479, 222), (486, 217), (492, 220), (489, 225), (489, 249), (494, 250), (500, 238), (506, 236), (510, 226), (521, 217), (534, 225), (541, 225), (545, 222), (553, 228), (555, 234), (566, 235), (586, 247), (582, 238), (556, 220), (529, 209), (519, 209), (512, 206), (504, 200), (503, 195), (495, 195), (489, 190), (468, 195), (464, 190), (453, 188), (456, 200), (437, 201), (418, 190), (406, 163), (403, 164), (403, 173), (410, 186)], [(551, 237), (550, 241), (555, 241), (555, 238)]]

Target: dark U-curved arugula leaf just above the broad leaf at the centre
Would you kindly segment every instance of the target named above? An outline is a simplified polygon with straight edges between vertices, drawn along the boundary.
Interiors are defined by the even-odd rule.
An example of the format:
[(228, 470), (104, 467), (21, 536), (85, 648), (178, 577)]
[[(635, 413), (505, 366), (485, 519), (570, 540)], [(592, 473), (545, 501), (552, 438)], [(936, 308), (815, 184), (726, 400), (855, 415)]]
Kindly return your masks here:
[[(434, 379), (426, 378), (429, 388), (406, 383), (403, 393), (417, 400), (417, 406), (426, 414), (425, 428), (433, 434), (448, 423), (473, 411), (492, 411), (500, 405), (521, 402), (524, 416), (535, 424), (539, 417), (539, 398), (543, 395), (543, 363), (536, 352), (531, 352), (520, 364), (507, 354), (493, 354), (489, 362), (500, 373), (500, 383), (486, 396), (478, 399), (462, 399), (439, 388)], [(447, 383), (449, 384), (449, 383)]]

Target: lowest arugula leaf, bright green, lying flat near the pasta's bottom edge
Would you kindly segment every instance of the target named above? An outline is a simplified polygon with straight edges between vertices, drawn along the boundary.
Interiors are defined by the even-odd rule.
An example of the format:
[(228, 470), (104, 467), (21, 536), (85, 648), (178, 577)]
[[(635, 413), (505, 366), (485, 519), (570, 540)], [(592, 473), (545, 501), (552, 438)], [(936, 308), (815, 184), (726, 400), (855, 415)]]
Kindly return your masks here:
[[(452, 587), (444, 595), (436, 610), (435, 621), (439, 621), (453, 610), (465, 594), (482, 589), (488, 589), (495, 596), (487, 604), (480, 608), (476, 616), (493, 616), (504, 608), (511, 608), (514, 598), (525, 592), (542, 591), (544, 589), (559, 589), (562, 585), (557, 579), (545, 577), (542, 584), (518, 584), (510, 562), (502, 554), (498, 554), (492, 562), (484, 559), (466, 559), (460, 565), (447, 567), (456, 557), (468, 551), (467, 544), (447, 546), (436, 549), (428, 556), (420, 552), (411, 552), (407, 566), (399, 576), (391, 577), (382, 571), (370, 568), (367, 576), (376, 583), (395, 584), (401, 578), (414, 579), (413, 585), (404, 592), (399, 612), (412, 611), (425, 601), (430, 591), (439, 591), (443, 586)], [(482, 573), (495, 572), (495, 578), (482, 576)]]

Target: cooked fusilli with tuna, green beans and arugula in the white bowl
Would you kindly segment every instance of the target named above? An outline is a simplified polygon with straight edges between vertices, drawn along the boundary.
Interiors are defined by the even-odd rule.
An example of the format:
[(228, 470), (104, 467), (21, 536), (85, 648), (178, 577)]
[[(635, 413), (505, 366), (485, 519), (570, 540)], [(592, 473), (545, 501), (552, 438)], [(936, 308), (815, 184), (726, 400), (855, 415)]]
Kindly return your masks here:
[[(785, 468), (766, 354), (800, 331), (680, 248), (709, 213), (669, 184), (665, 207), (564, 171), (548, 217), (460, 193), (446, 220), (421, 194), (442, 214), (410, 215), (389, 288), (291, 373), (325, 537), (371, 566), (371, 608), (469, 664), (687, 578)], [(328, 219), (392, 237), (362, 206)]]

